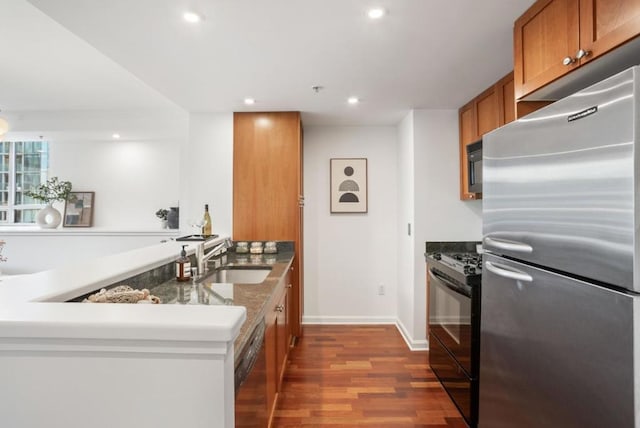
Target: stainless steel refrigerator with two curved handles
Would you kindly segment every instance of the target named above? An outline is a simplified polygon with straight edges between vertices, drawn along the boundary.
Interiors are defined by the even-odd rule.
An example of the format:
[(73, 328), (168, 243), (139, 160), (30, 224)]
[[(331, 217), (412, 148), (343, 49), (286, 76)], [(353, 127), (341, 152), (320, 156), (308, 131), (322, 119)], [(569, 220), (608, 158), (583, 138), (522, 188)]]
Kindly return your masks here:
[(640, 68), (483, 139), (479, 427), (640, 427)]

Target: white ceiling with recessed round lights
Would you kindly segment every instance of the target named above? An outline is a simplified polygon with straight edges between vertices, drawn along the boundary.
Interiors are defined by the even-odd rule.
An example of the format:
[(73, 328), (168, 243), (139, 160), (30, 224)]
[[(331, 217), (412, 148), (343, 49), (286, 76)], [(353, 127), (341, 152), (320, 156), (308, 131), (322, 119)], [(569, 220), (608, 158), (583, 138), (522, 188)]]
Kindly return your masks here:
[[(0, 109), (299, 110), (305, 125), (392, 125), (410, 109), (457, 109), (510, 71), (513, 22), (532, 3), (0, 0)], [(369, 19), (372, 6), (386, 16)], [(188, 24), (186, 10), (204, 20)]]

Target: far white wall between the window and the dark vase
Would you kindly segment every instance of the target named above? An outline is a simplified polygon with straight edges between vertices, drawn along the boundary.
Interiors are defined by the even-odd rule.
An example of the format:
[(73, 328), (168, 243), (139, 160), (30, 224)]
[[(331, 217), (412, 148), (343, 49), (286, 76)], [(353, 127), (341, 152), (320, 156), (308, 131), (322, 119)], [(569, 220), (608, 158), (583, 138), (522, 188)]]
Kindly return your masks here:
[(75, 191), (96, 192), (94, 227), (156, 228), (155, 212), (178, 203), (176, 141), (53, 141), (50, 152), (50, 176), (71, 181)]

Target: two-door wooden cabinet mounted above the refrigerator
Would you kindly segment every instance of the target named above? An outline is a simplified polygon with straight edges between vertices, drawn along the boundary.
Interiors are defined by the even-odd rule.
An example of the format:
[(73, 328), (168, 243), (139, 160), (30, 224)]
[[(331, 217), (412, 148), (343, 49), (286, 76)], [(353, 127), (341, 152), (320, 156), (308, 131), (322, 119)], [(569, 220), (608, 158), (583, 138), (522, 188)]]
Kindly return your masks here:
[(537, 1), (514, 25), (516, 99), (638, 34), (640, 0)]

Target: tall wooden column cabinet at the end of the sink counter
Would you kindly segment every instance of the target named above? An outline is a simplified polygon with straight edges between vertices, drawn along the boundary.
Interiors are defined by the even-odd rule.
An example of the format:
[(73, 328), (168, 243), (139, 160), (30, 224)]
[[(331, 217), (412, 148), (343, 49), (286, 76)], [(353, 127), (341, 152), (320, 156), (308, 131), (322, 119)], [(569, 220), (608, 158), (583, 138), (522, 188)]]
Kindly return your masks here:
[(302, 123), (300, 112), (234, 113), (233, 239), (294, 241), (293, 336), (302, 335)]

